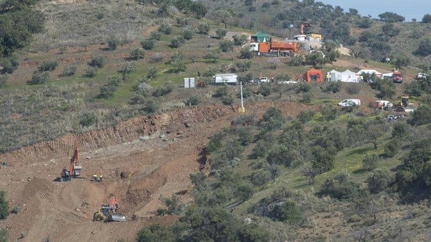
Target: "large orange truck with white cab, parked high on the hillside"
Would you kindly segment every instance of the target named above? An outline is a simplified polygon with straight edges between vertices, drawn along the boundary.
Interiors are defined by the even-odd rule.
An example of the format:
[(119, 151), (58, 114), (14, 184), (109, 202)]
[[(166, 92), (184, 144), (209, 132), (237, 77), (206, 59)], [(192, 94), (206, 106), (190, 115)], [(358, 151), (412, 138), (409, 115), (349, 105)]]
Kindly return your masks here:
[(250, 43), (249, 47), (258, 56), (289, 56), (298, 51), (298, 42), (258, 42)]

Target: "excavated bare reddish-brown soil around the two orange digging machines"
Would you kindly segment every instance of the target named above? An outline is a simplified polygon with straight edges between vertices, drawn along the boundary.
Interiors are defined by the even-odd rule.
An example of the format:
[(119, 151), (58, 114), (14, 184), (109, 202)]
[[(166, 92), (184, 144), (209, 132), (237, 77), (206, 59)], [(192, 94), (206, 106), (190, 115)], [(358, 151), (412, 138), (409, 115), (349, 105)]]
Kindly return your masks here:
[[(259, 117), (272, 102), (248, 104)], [(286, 115), (309, 108), (277, 104)], [(188, 176), (200, 170), (200, 152), (208, 137), (240, 115), (231, 106), (180, 108), (138, 117), (116, 127), (81, 135), (67, 135), (0, 155), (8, 166), (0, 169), (0, 191), (10, 207), (19, 206), (0, 220), (11, 241), (133, 241), (150, 223), (167, 224), (177, 216), (156, 216), (160, 197), (177, 194), (190, 202), (193, 188)], [(69, 166), (77, 143), (83, 179), (57, 181)], [(104, 175), (101, 182), (92, 175)], [(112, 195), (120, 199), (127, 222), (92, 222), (92, 216)]]

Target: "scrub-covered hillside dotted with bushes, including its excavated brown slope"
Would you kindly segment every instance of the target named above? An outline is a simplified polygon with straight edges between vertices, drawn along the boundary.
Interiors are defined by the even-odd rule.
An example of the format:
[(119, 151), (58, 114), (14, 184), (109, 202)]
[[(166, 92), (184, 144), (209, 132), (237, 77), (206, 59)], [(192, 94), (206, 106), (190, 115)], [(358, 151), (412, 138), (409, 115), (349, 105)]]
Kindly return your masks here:
[[(3, 61), (19, 65), (0, 76), (0, 192), (10, 212), (0, 241), (429, 241), (431, 82), (415, 76), (430, 55), (412, 52), (430, 24), (394, 23), (391, 58), (411, 58), (402, 83), (307, 83), (311, 67), (391, 72), (393, 62), (350, 55), (366, 42), (349, 40), (382, 37), (385, 23), (359, 28), (364, 17), (313, 12), (314, 1), (295, 19), (289, 12), (301, 15), (304, 2), (251, 2), (254, 10), (250, 1), (38, 1), (44, 31), (1, 58), (3, 72)], [(244, 56), (256, 31), (281, 40), (286, 23), (305, 21), (327, 42), (336, 33), (325, 23), (351, 24), (334, 60), (310, 65), (305, 49)], [(321, 51), (334, 54), (325, 42)], [(245, 84), (240, 113), (240, 86), (209, 84), (227, 72), (275, 82)], [(199, 86), (184, 88), (186, 77)], [(404, 95), (414, 113), (368, 107)], [(347, 98), (361, 105), (336, 105)], [(58, 181), (76, 145), (83, 179)], [(113, 195), (127, 221), (93, 222)]]

